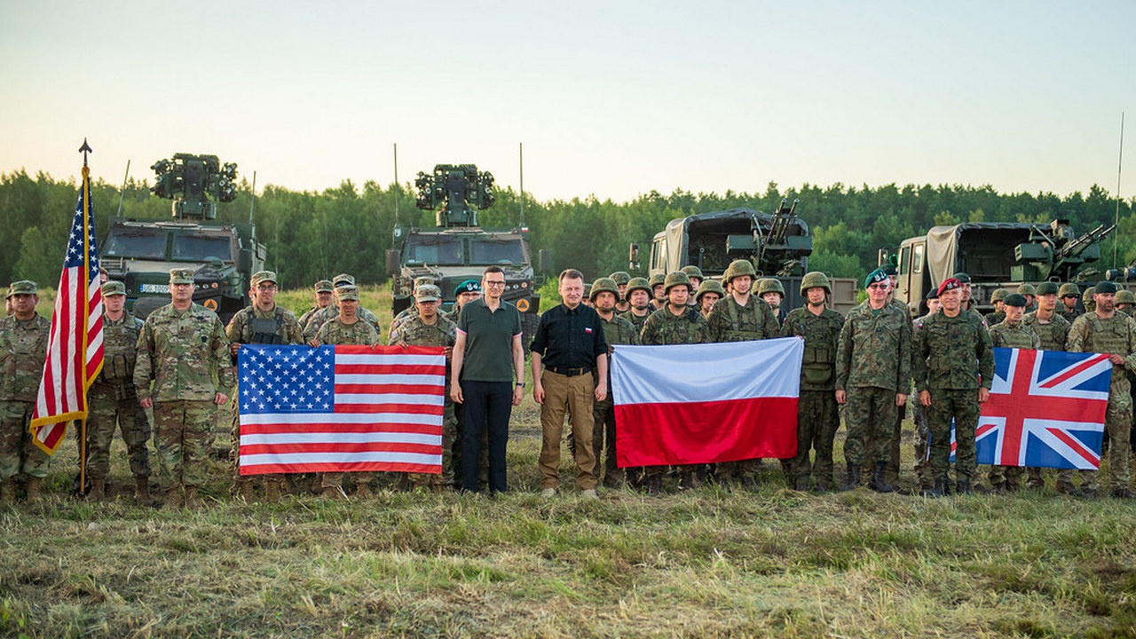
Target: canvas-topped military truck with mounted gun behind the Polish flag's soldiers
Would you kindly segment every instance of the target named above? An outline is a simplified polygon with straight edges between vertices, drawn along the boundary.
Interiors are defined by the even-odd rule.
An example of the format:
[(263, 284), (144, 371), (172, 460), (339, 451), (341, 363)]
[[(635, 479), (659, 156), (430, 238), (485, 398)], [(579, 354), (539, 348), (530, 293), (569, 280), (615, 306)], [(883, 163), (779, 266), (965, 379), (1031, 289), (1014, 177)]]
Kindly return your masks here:
[[(797, 200), (782, 200), (777, 213), (752, 208), (732, 208), (671, 219), (666, 231), (651, 242), (650, 275), (698, 266), (705, 277), (720, 280), (735, 259), (749, 259), (759, 277), (776, 277), (787, 293), (782, 308), (804, 304), (801, 277), (809, 271), (812, 236), (809, 225), (796, 217)], [(630, 246), (630, 268), (640, 268), (638, 244)], [(829, 306), (847, 313), (855, 306), (857, 282), (829, 277), (833, 288)], [(755, 289), (754, 289), (755, 290)]]

